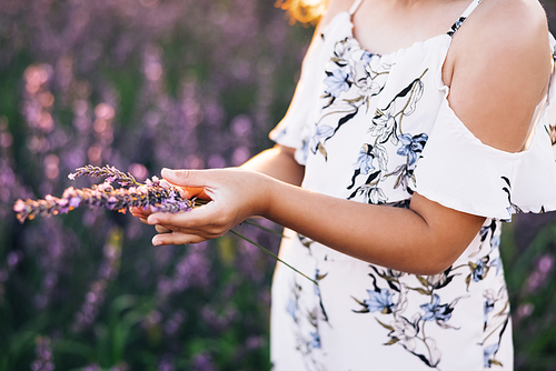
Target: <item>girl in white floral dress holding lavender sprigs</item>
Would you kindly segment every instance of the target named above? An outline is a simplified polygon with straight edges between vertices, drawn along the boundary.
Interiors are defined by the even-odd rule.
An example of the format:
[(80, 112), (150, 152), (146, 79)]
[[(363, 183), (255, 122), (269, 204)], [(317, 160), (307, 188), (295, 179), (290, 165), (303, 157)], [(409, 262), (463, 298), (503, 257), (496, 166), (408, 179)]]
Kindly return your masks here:
[(537, 0), (330, 0), (277, 144), (239, 169), (168, 170), (191, 212), (133, 210), (152, 243), (260, 215), (288, 228), (275, 370), (512, 370), (498, 244), (556, 209), (554, 39)]

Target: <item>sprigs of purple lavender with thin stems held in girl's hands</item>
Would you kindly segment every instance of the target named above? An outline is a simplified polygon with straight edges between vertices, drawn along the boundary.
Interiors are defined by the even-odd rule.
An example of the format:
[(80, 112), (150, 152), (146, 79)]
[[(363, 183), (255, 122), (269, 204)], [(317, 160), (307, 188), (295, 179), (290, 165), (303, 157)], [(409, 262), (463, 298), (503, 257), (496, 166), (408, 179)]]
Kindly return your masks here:
[[(23, 201), (19, 199), (13, 205), (13, 211), (17, 212), (19, 222), (23, 223), (27, 219), (32, 220), (36, 215), (50, 217), (68, 213), (76, 208), (85, 205), (92, 209), (106, 208), (108, 210), (126, 213), (128, 208), (150, 208), (153, 212), (190, 211), (196, 205), (206, 203), (206, 201), (202, 200), (197, 201), (196, 199), (188, 200), (182, 198), (182, 193), (179, 188), (173, 187), (157, 177), (147, 179), (145, 184), (142, 184), (137, 182), (135, 177), (129, 172), (125, 173), (108, 164), (103, 168), (88, 164), (86, 167), (78, 168), (76, 172), (68, 176), (70, 180), (75, 180), (78, 177), (101, 177), (105, 178), (105, 181), (100, 184), (93, 184), (91, 188), (67, 188), (61, 198), (47, 194), (43, 200), (28, 199)], [(120, 188), (113, 188), (113, 182), (120, 184)], [(268, 230), (252, 221), (246, 222)], [(267, 250), (259, 243), (234, 230), (230, 230), (230, 232), (247, 242), (252, 243), (262, 252), (271, 255), (279, 262), (286, 264), (288, 268), (318, 285), (316, 280), (307, 277), (290, 264), (286, 263), (284, 260), (278, 258), (278, 255)]]

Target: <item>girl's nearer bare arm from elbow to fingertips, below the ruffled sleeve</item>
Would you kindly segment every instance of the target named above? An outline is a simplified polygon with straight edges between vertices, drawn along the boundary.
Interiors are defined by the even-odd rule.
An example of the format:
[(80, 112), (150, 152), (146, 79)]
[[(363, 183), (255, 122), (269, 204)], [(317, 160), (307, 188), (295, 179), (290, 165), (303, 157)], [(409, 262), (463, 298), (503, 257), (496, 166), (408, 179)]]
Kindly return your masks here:
[(245, 219), (260, 215), (364, 261), (435, 274), (456, 261), (485, 220), (417, 193), (409, 209), (367, 204), (312, 192), (247, 169), (165, 170), (162, 176), (173, 184), (202, 188), (212, 202), (188, 212), (150, 215), (148, 223), (172, 231), (157, 235), (155, 244), (214, 239)]

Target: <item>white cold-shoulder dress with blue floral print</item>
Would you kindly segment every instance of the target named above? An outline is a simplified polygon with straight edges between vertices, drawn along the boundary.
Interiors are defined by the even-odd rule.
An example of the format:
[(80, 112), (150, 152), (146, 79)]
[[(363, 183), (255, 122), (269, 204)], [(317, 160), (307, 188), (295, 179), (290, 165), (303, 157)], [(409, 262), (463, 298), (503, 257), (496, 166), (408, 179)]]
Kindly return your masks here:
[(399, 208), (417, 191), (487, 219), (459, 259), (430, 277), (369, 264), (287, 230), (281, 259), (319, 285), (277, 265), (274, 370), (513, 369), (500, 221), (556, 209), (556, 91), (553, 84), (538, 106), (523, 152), (487, 147), (466, 129), (448, 106), (441, 68), (479, 2), (447, 33), (378, 56), (353, 36), (358, 0), (309, 50), (290, 109), (270, 133), (296, 148), (304, 188)]

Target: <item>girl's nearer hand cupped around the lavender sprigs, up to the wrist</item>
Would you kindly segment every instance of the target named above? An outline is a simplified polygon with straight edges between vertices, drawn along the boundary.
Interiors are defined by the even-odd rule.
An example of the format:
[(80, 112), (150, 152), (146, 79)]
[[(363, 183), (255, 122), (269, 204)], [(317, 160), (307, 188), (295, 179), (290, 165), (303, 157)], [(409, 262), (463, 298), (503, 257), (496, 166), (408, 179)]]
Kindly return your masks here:
[(265, 189), (270, 178), (254, 171), (163, 169), (162, 177), (181, 188), (185, 197), (211, 202), (179, 213), (131, 210), (141, 221), (156, 225), (160, 234), (152, 239), (155, 245), (197, 243), (218, 238), (266, 208)]

